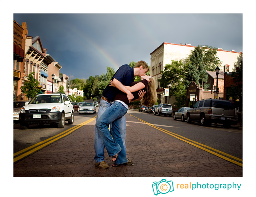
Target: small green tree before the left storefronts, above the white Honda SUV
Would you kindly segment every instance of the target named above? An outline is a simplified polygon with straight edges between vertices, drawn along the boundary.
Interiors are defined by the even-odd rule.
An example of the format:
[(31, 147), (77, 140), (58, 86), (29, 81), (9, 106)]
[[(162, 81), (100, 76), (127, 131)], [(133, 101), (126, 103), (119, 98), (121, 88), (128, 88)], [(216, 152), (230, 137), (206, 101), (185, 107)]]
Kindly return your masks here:
[(32, 72), (28, 75), (28, 81), (24, 83), (24, 86), (21, 86), (21, 93), (26, 94), (26, 97), (30, 100), (36, 96), (40, 89), (37, 89), (39, 82), (35, 79), (35, 73)]

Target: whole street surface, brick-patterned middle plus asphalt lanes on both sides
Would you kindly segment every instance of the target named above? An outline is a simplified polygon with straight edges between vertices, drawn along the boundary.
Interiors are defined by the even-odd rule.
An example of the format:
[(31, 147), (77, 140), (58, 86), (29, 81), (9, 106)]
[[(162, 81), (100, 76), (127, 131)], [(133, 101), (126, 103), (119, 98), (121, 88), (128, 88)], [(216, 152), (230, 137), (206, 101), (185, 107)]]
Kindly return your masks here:
[[(58, 131), (63, 133), (61, 137), (53, 136), (58, 129), (50, 126), (37, 126), (23, 133), (14, 125), (14, 133), (27, 136), (38, 130), (37, 136), (33, 133), (33, 143), (45, 141), (45, 144), (35, 144), (35, 148), (31, 146), (33, 143), (24, 145), (28, 141), (16, 143), (20, 147), (15, 150), (30, 146), (30, 151), (26, 154), (21, 150), (22, 153), (14, 156), (14, 176), (242, 176), (242, 130), (216, 125), (202, 127), (197, 123), (175, 121), (173, 117), (128, 110), (126, 150), (134, 166), (101, 170), (94, 166), (93, 159), (97, 113), (79, 115), (75, 112), (74, 115), (74, 125), (65, 124), (65, 131)], [(14, 135), (14, 141), (21, 142), (18, 136)], [(51, 141), (46, 140), (51, 137)], [(112, 164), (107, 152), (105, 161)]]

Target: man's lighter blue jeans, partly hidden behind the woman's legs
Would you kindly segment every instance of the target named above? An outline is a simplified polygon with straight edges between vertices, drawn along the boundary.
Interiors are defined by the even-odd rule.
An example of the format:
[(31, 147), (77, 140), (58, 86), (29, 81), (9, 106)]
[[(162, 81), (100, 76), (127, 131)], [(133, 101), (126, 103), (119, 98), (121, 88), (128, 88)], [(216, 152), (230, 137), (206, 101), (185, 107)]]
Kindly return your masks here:
[[(100, 106), (99, 106), (99, 111), (98, 111), (98, 116), (96, 118), (96, 122), (98, 121), (99, 118), (101, 118), (102, 114), (111, 106), (110, 103), (107, 101), (101, 99)], [(123, 142), (123, 149), (122, 152), (125, 153), (126, 156), (126, 147), (125, 147), (125, 136), (126, 136), (126, 124), (125, 124), (125, 116), (122, 116), (121, 118), (116, 119), (116, 124), (119, 125), (119, 133), (121, 135), (121, 139)], [(112, 124), (110, 124), (110, 130), (112, 128)], [(111, 133), (113, 133), (111, 131)], [(115, 136), (112, 134), (112, 136)], [(99, 163), (101, 161), (104, 161), (104, 143), (103, 140), (100, 136), (100, 133), (95, 127), (95, 138), (94, 138), (94, 150), (95, 150), (95, 157), (94, 160), (96, 163)]]

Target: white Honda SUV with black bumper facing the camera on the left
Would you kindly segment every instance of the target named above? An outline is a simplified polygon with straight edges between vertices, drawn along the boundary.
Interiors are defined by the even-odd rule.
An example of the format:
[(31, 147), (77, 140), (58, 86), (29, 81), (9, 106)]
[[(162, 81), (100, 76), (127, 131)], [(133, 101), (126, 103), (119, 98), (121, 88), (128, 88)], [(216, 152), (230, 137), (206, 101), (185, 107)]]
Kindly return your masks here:
[(74, 123), (74, 109), (65, 94), (39, 94), (21, 108), (19, 120), (21, 129), (33, 124), (56, 124), (64, 128), (65, 121)]

